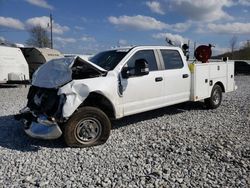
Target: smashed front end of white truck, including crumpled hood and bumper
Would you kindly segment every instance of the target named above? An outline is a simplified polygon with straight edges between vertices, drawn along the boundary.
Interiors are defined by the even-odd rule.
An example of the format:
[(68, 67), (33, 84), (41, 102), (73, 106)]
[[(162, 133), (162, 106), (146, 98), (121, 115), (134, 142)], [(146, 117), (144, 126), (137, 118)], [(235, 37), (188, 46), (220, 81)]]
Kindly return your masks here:
[(67, 96), (60, 88), (72, 80), (103, 76), (104, 72), (80, 57), (56, 59), (42, 65), (33, 75), (27, 106), (15, 118), (23, 121), (24, 131), (33, 138), (59, 138), (61, 125), (69, 118), (63, 112)]

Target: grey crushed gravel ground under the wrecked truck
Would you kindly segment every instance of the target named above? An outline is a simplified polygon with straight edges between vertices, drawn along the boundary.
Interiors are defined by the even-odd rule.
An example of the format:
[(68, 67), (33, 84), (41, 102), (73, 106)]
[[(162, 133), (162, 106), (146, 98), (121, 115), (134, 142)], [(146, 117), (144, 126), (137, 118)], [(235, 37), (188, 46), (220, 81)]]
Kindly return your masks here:
[(250, 187), (250, 76), (216, 110), (184, 103), (115, 121), (106, 144), (29, 138), (13, 114), (28, 88), (0, 88), (0, 187)]

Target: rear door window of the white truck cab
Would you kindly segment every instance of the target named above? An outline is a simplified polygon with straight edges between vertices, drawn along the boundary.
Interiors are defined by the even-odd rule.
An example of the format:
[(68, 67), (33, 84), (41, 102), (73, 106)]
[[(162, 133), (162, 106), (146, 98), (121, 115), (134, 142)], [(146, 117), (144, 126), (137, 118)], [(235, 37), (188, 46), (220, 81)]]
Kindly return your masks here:
[(183, 67), (181, 56), (176, 50), (161, 50), (165, 69), (180, 69)]

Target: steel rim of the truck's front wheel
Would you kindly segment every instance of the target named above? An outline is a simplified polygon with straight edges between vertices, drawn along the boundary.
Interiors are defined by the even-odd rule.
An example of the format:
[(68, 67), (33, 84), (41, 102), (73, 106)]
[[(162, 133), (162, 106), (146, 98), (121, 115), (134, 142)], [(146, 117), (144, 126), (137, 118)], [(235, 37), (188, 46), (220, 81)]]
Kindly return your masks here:
[(102, 126), (96, 118), (85, 118), (78, 122), (75, 129), (76, 139), (84, 144), (93, 143), (101, 135)]

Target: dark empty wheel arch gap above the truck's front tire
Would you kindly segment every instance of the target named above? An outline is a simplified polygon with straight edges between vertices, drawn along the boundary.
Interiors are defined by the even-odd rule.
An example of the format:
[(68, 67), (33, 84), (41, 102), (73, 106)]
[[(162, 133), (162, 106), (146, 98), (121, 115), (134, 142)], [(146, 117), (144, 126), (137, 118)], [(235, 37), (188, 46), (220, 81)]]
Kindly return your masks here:
[(101, 109), (109, 118), (115, 118), (113, 103), (101, 93), (91, 92), (79, 107), (93, 106)]

